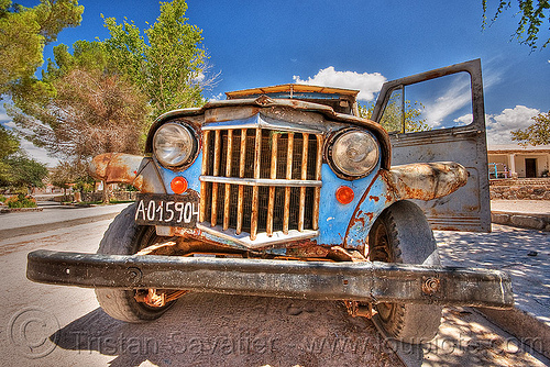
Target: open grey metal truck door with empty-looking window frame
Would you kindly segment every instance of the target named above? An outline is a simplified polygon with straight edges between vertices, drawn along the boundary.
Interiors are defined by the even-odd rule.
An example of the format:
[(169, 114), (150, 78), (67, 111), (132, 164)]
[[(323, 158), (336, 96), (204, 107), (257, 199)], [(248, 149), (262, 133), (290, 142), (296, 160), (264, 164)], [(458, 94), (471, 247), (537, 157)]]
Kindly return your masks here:
[(454, 193), (416, 201), (433, 230), (491, 232), (485, 110), (480, 59), (452, 65), (386, 82), (378, 96), (373, 120), (382, 119), (392, 91), (421, 81), (465, 71), (470, 75), (473, 122), (466, 126), (391, 134), (392, 165), (455, 162), (469, 173), (468, 184)]

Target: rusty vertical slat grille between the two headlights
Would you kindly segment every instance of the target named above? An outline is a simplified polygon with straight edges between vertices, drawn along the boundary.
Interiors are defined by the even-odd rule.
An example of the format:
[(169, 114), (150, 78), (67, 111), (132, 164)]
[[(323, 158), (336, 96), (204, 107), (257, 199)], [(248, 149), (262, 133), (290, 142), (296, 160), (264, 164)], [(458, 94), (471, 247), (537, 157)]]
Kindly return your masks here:
[[(321, 180), (322, 135), (267, 129), (204, 132), (202, 176)], [(237, 234), (317, 230), (320, 188), (201, 182), (200, 220)]]

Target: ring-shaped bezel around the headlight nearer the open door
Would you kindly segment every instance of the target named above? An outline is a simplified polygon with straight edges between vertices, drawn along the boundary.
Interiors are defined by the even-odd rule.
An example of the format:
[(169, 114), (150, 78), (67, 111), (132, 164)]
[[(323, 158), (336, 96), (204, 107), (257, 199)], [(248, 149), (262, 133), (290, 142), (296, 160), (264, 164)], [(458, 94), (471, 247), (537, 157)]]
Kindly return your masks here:
[[(336, 157), (336, 154), (338, 154), (334, 151), (338, 151), (338, 144), (343, 144), (345, 137), (349, 137), (350, 134), (354, 133), (360, 133), (364, 134), (364, 136), (370, 140), (371, 143), (373, 143), (372, 147), (373, 149), (370, 151), (375, 153), (375, 158), (370, 159), (371, 164), (365, 167), (364, 170), (362, 171), (353, 171), (350, 170), (349, 167), (344, 167), (339, 160), (340, 158)], [(369, 154), (369, 153), (367, 153)], [(331, 134), (329, 137), (327, 145), (326, 145), (326, 155), (327, 155), (327, 163), (329, 164), (330, 168), (332, 171), (342, 179), (345, 180), (356, 180), (363, 177), (369, 176), (381, 163), (382, 158), (382, 152), (381, 152), (381, 144), (376, 136), (370, 132), (369, 130), (361, 129), (361, 127), (345, 127), (342, 130), (337, 131), (336, 133)]]

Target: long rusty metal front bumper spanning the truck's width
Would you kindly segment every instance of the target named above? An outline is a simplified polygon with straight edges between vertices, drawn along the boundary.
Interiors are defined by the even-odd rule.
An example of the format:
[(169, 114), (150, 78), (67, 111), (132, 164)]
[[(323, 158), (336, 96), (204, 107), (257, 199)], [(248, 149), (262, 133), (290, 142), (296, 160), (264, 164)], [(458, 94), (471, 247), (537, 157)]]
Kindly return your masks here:
[(490, 308), (514, 304), (499, 270), (371, 262), (102, 255), (38, 249), (29, 254), (33, 281), (78, 287), (185, 289), (200, 292), (410, 302)]

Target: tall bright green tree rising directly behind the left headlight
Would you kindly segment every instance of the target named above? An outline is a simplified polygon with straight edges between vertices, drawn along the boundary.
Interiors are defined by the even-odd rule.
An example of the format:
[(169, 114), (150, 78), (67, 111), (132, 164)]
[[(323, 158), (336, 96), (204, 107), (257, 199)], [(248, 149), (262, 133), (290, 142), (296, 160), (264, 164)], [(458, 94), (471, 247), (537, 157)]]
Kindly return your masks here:
[(161, 15), (142, 32), (133, 22), (105, 20), (110, 38), (105, 41), (110, 65), (148, 97), (154, 115), (205, 102), (202, 88), (207, 55), (201, 47), (202, 31), (188, 24), (184, 0), (161, 2)]

